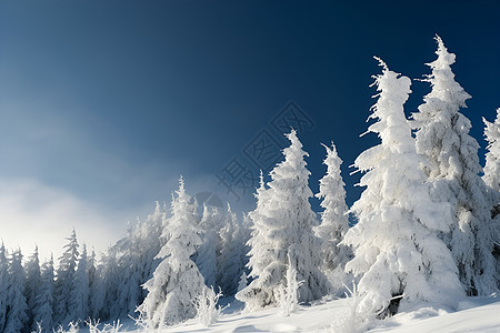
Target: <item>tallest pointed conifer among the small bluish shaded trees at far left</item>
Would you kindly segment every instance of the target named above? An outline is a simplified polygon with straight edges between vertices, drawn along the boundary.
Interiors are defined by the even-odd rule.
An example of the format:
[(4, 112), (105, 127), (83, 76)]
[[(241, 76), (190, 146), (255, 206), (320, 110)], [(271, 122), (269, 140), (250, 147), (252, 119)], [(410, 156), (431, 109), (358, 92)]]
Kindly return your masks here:
[(57, 270), (57, 279), (53, 286), (54, 306), (53, 321), (57, 325), (66, 326), (70, 321), (70, 301), (74, 289), (74, 276), (77, 274), (78, 263), (78, 241), (77, 232), (71, 232), (67, 238), (68, 243), (64, 245), (64, 252), (59, 258), (59, 268)]

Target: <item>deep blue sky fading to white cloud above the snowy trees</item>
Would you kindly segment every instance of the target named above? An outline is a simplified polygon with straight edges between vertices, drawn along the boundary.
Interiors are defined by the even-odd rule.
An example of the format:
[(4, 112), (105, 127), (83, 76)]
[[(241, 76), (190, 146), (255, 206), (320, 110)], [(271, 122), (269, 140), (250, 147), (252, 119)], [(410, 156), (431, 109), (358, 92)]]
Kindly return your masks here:
[[(1, 1), (0, 236), (58, 253), (76, 226), (102, 250), (169, 202), (179, 174), (191, 194), (248, 210), (242, 186), (279, 157), (283, 124), (302, 127), (314, 192), (320, 142), (336, 142), (352, 203), (348, 167), (378, 143), (359, 138), (372, 57), (422, 78), (436, 33), (472, 95), (464, 114), (482, 158), (481, 117), (500, 107), (500, 2), (402, 2)], [(409, 113), (429, 87), (412, 91)]]

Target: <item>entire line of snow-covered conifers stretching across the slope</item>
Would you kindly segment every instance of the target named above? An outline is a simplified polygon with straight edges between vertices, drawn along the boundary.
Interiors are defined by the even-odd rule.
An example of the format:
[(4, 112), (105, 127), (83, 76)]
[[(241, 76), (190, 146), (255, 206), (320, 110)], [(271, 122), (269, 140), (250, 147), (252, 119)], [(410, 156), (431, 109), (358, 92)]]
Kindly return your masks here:
[(431, 92), (410, 119), (411, 80), (379, 59), (368, 132), (381, 142), (354, 162), (364, 191), (351, 208), (336, 145), (324, 145), (327, 172), (313, 195), (308, 153), (291, 130), (271, 180), (261, 174), (257, 208), (240, 218), (229, 204), (199, 208), (181, 178), (171, 205), (157, 203), (99, 260), (74, 230), (57, 268), (40, 263), (37, 249), (23, 261), (1, 245), (0, 332), (127, 316), (161, 327), (200, 315), (219, 290), (258, 311), (342, 296), (354, 283), (356, 312), (379, 319), (418, 302), (454, 309), (466, 295), (498, 292), (500, 109), (484, 120), (482, 168), (460, 112), (470, 95), (454, 81), (454, 54), (436, 40), (424, 78)]

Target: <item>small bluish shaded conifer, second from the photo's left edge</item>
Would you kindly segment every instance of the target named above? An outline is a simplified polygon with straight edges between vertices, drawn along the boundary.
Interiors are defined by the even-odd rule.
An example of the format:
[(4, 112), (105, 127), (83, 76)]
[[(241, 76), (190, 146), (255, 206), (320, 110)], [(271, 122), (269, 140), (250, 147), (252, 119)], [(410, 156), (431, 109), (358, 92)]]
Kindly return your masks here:
[(19, 249), (11, 254), (8, 283), (7, 320), (2, 332), (19, 333), (28, 324), (28, 304), (24, 296), (26, 275), (22, 268), (22, 254)]

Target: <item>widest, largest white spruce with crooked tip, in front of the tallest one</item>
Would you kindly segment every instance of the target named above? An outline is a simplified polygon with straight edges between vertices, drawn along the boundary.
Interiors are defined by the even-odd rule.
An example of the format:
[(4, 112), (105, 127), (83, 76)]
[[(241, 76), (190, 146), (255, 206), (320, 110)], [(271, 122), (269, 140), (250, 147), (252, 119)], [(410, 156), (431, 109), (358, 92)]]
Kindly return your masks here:
[(346, 270), (360, 278), (357, 312), (383, 317), (398, 311), (398, 303), (401, 309), (418, 301), (454, 306), (463, 291), (451, 253), (436, 235), (448, 231), (450, 210), (431, 200), (419, 168), (424, 161), (403, 111), (411, 81), (380, 64), (370, 115), (378, 122), (368, 132), (381, 144), (354, 162), (364, 172), (360, 185), (366, 190), (352, 206), (359, 222), (343, 241), (354, 251)]

